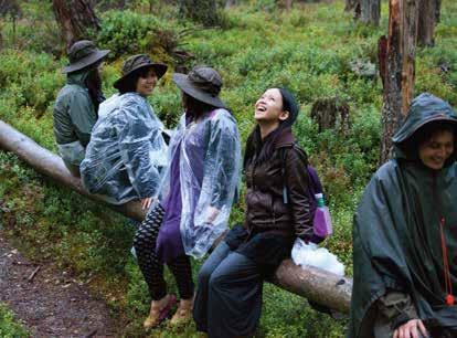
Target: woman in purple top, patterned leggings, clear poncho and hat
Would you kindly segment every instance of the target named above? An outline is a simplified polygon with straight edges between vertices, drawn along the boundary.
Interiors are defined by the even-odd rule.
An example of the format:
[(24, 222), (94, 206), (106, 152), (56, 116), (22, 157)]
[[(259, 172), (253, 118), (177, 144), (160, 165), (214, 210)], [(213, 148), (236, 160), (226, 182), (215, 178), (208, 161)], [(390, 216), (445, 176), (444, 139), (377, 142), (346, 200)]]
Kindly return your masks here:
[(241, 168), (236, 122), (217, 97), (222, 80), (210, 67), (174, 74), (185, 114), (171, 139), (170, 165), (160, 203), (135, 236), (138, 264), (152, 298), (145, 327), (156, 327), (176, 302), (167, 294), (163, 263), (172, 271), (181, 302), (172, 325), (192, 317), (194, 285), (189, 255), (202, 257), (227, 229)]

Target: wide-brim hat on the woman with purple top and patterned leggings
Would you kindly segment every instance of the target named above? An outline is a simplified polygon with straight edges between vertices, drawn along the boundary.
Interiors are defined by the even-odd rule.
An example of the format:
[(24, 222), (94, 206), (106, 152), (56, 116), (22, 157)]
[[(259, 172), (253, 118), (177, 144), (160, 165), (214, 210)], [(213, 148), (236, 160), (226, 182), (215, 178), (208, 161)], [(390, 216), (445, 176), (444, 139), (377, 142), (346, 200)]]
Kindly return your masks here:
[(185, 94), (217, 108), (225, 108), (219, 98), (222, 88), (222, 77), (208, 66), (195, 66), (189, 74), (174, 73), (173, 82)]

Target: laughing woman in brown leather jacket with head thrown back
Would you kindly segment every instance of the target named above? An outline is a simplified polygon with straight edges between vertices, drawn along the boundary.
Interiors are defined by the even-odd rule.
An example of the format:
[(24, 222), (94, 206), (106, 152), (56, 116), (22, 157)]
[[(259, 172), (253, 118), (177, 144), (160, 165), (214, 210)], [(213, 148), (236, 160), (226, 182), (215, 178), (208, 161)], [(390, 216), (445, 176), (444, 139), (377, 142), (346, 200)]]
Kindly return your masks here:
[(264, 279), (290, 255), (297, 236), (312, 240), (307, 159), (291, 134), (297, 115), (298, 104), (284, 88), (267, 89), (255, 104), (257, 126), (244, 158), (244, 224), (227, 234), (199, 273), (193, 317), (210, 338), (254, 335)]

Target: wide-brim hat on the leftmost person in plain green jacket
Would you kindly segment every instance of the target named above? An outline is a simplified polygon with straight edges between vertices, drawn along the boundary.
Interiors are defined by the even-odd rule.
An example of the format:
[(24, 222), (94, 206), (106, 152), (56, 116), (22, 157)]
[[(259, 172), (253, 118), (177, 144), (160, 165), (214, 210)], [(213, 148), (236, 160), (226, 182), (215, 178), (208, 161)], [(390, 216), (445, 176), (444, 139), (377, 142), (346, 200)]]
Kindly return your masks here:
[(109, 52), (109, 50), (97, 49), (91, 40), (76, 41), (67, 51), (70, 64), (62, 70), (62, 73), (84, 70), (102, 61)]

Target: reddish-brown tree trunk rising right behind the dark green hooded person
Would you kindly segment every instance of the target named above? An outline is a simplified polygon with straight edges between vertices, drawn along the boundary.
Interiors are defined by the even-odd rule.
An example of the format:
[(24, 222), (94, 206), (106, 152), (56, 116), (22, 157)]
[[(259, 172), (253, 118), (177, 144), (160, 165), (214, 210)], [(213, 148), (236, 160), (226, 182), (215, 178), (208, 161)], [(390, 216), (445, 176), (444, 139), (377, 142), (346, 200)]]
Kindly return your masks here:
[(418, 0), (390, 0), (389, 9), (389, 36), (382, 36), (379, 42), (384, 85), (381, 163), (392, 156), (392, 136), (406, 117), (413, 98)]

